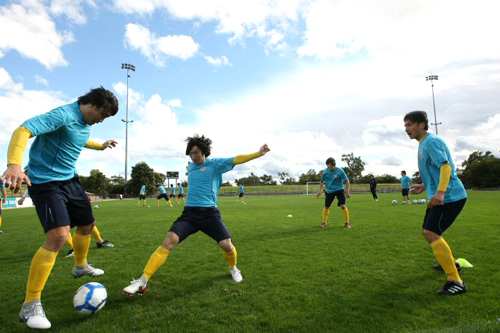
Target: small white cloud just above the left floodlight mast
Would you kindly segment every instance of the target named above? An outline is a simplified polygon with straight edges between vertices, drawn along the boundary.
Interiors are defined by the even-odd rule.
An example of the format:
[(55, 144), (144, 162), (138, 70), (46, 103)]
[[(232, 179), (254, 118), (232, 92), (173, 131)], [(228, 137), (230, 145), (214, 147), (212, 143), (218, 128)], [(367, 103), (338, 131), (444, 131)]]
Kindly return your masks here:
[(156, 66), (165, 66), (168, 57), (187, 60), (199, 49), (199, 45), (190, 36), (156, 37), (148, 28), (133, 23), (125, 27), (125, 45), (133, 50), (139, 50)]

